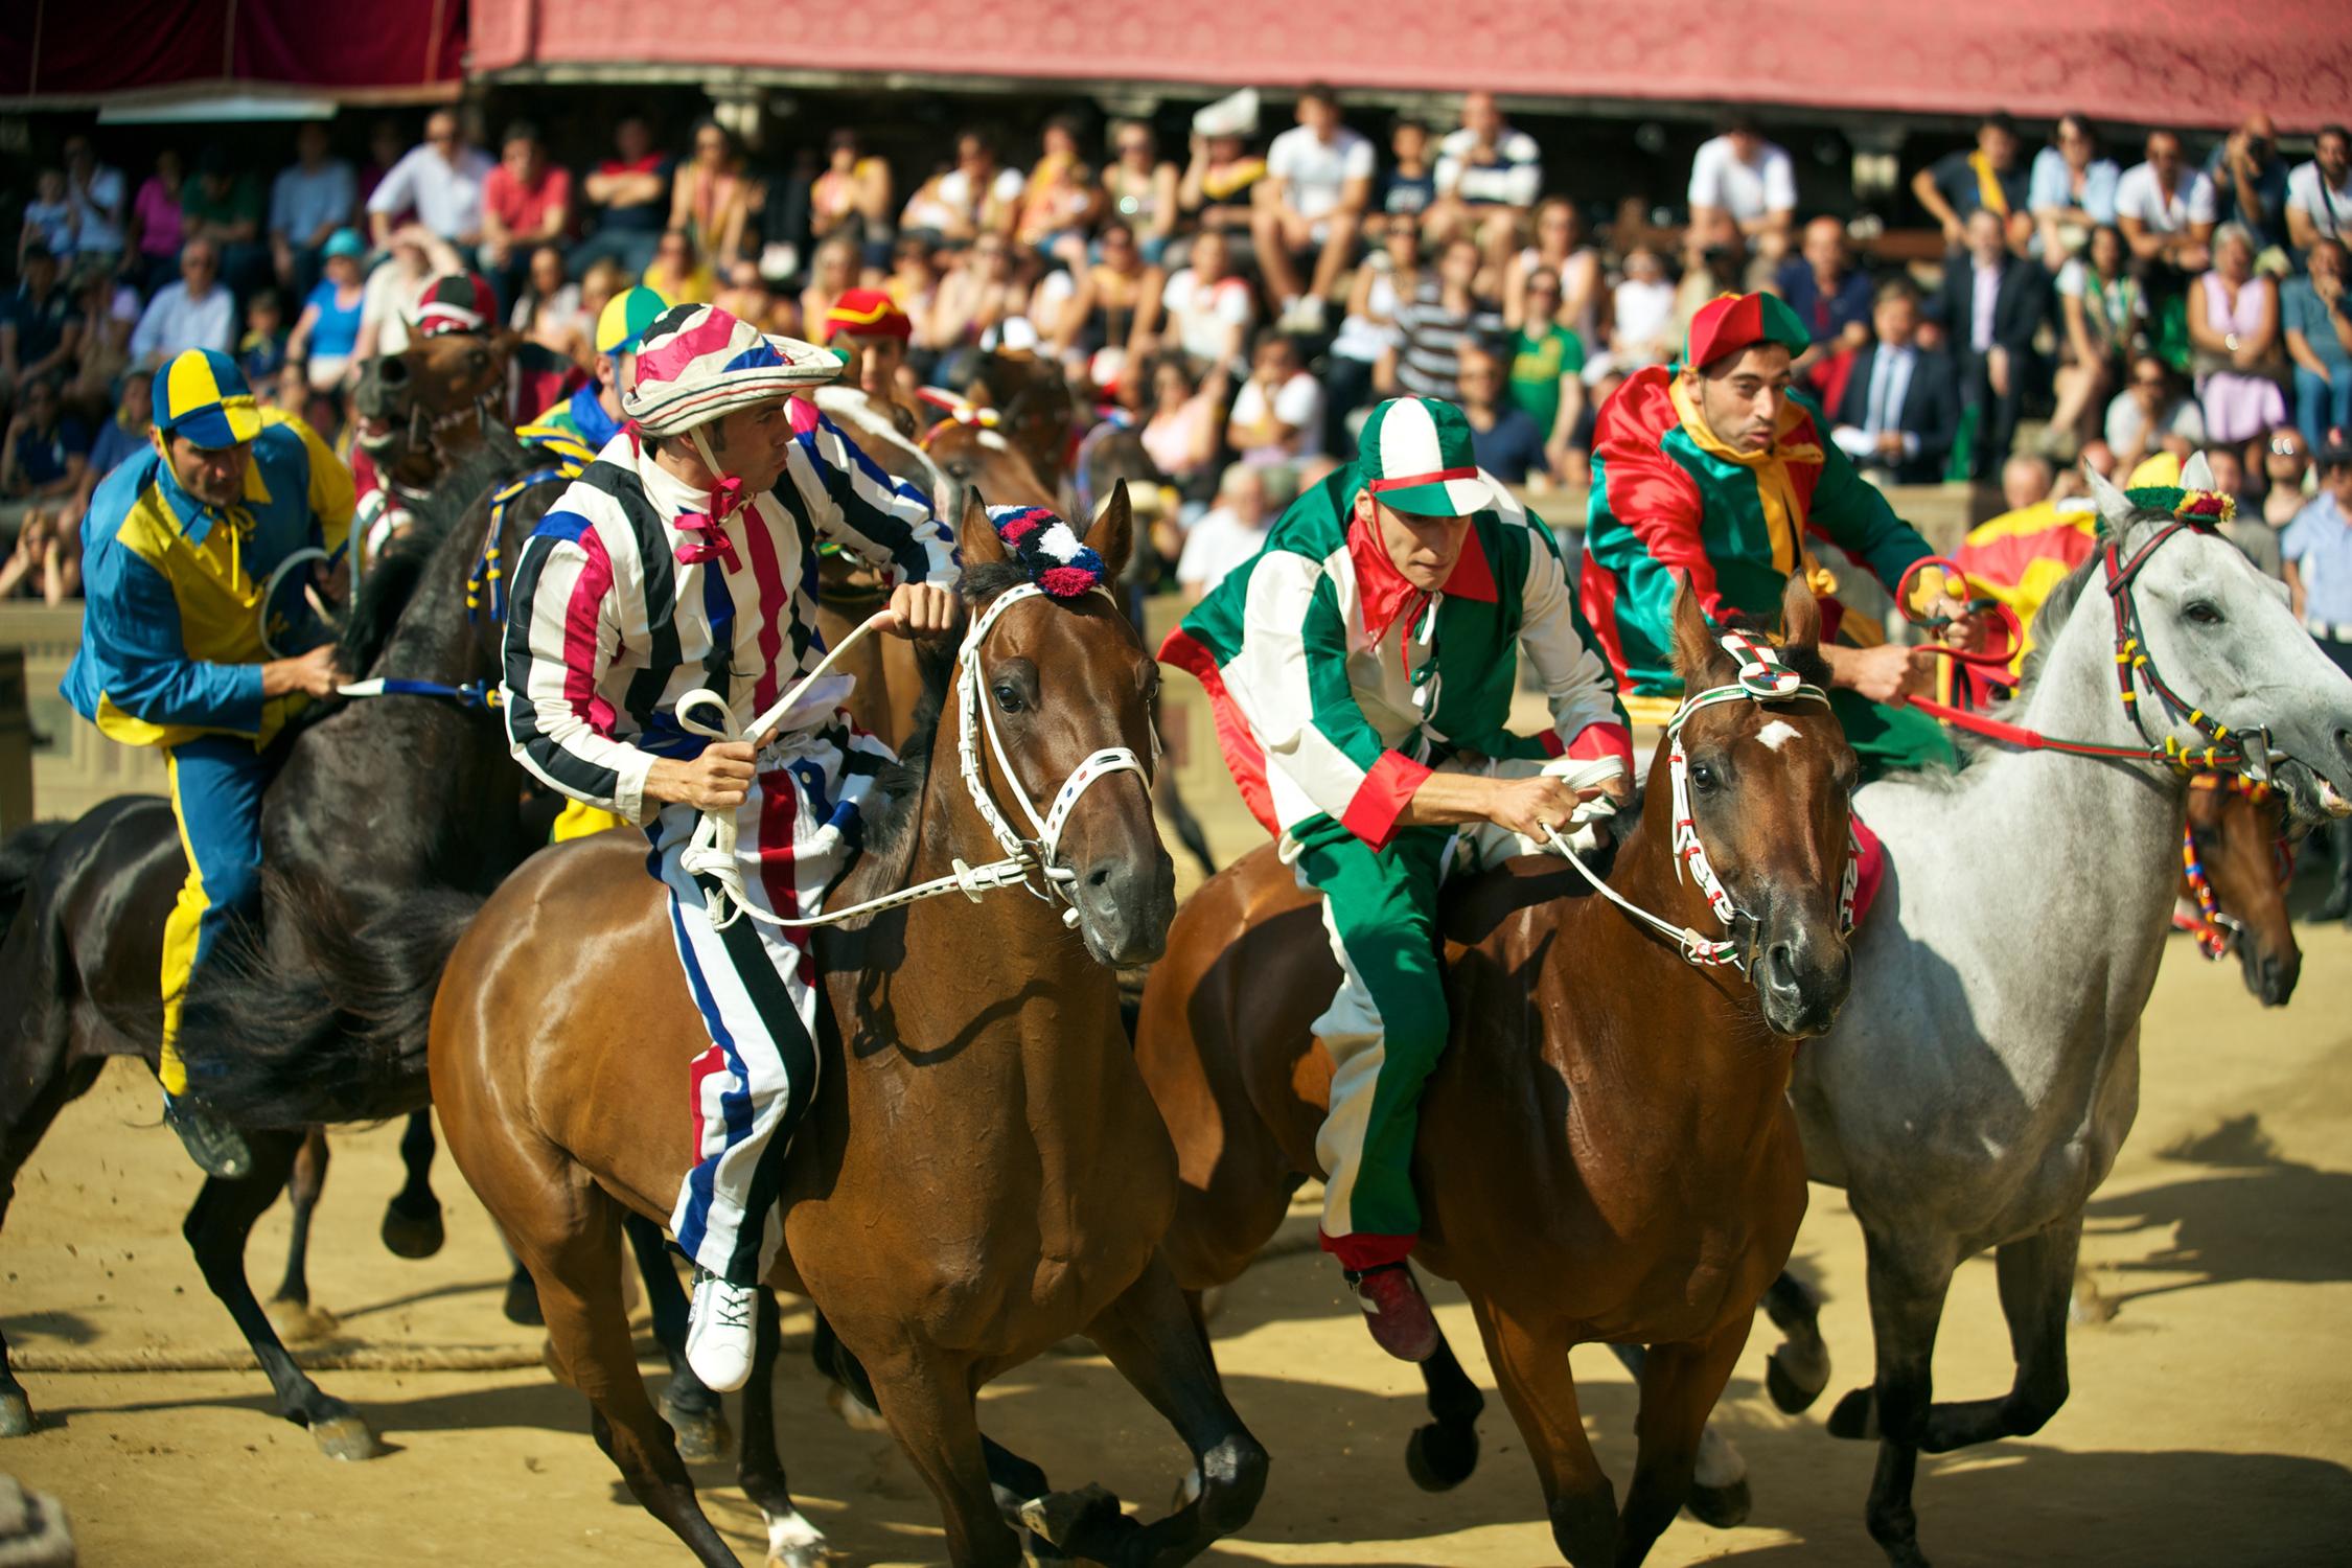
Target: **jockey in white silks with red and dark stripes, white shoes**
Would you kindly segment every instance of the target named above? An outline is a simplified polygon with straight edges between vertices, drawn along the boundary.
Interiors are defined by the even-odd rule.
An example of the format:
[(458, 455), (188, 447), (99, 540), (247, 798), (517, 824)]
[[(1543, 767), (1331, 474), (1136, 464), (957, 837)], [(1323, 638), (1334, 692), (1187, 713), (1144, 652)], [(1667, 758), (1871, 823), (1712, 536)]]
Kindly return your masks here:
[(753, 1291), (783, 1246), (783, 1154), (816, 1093), (818, 990), (811, 933), (715, 929), (715, 884), (684, 851), (706, 809), (731, 809), (748, 900), (814, 914), (891, 755), (842, 712), (847, 677), (818, 679), (741, 743), (696, 733), (677, 701), (708, 686), (755, 715), (816, 668), (818, 541), (889, 574), (901, 635), (941, 635), (960, 614), (950, 531), (797, 395), (837, 371), (823, 348), (724, 310), (666, 310), (637, 350), (630, 423), (524, 543), (506, 621), (515, 757), (644, 825), (710, 1032), (670, 1229), (696, 1265), (687, 1359), (713, 1389), (750, 1375)]

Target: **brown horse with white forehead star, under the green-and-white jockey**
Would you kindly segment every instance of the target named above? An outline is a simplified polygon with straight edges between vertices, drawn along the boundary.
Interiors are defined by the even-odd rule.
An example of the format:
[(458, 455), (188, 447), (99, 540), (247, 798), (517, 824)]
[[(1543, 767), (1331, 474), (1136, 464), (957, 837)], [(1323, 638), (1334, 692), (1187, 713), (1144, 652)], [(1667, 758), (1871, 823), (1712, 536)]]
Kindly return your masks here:
[[(1802, 583), (1785, 621), (1788, 663), (1818, 675)], [(1689, 592), (1675, 665), (1691, 691), (1736, 679)], [(1856, 762), (1837, 719), (1813, 703), (1719, 703), (1689, 717), (1682, 745), (1698, 839), (1745, 912), (1745, 980), (1693, 971), (1599, 898), (1564, 898), (1583, 882), (1557, 860), (1515, 860), (1449, 898), (1454, 1044), (1421, 1100), (1418, 1255), (1470, 1295), (1552, 1537), (1578, 1568), (1642, 1561), (1684, 1505), (1708, 1410), (1804, 1218), (1795, 1041), (1828, 1027), (1849, 983)], [(1665, 773), (1661, 743), (1609, 882), (1710, 929), (1708, 900), (1677, 875)], [(1331, 1060), (1310, 1030), (1336, 985), (1312, 893), (1270, 846), (1209, 882), (1169, 933), (1136, 1063), (1176, 1135), (1183, 1192), (1164, 1253), (1188, 1291), (1235, 1279), (1317, 1173)], [(1569, 1347), (1588, 1340), (1651, 1347), (1623, 1516), (1569, 1373)]]

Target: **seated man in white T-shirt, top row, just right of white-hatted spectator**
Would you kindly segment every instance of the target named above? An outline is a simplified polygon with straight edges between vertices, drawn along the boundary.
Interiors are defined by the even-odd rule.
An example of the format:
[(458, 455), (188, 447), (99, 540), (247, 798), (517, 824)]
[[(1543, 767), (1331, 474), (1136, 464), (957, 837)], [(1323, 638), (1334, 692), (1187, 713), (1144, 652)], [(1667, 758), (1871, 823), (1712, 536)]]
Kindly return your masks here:
[[(1265, 150), (1249, 233), (1268, 296), (1282, 303), (1287, 331), (1322, 331), (1324, 299), (1355, 261), (1355, 235), (1371, 205), (1371, 143), (1341, 125), (1338, 94), (1312, 85), (1298, 94), (1298, 125)], [(1305, 282), (1298, 263), (1315, 266)]]

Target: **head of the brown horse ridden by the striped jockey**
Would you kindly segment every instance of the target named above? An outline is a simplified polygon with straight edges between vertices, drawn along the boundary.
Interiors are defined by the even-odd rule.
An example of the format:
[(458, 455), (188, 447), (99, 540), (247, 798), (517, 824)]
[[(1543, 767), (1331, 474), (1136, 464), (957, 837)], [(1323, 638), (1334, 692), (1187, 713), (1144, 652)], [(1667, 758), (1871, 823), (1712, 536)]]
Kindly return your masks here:
[[(1101, 581), (1115, 581), (1134, 545), (1124, 484), (1112, 489), (1082, 538), (1101, 557)], [(964, 508), (957, 543), (971, 616), (985, 614), (988, 602), (1016, 583), (1037, 581), (978, 498)], [(1105, 592), (1058, 595), (1054, 583), (1040, 585), (1047, 597), (1007, 609), (976, 656), (978, 696), (990, 708), (1002, 757), (1044, 816), (1098, 752), (1127, 748), (1141, 759), (1155, 757), (1160, 665)], [(990, 790), (1007, 799), (993, 750), (983, 766)], [(1068, 811), (1056, 863), (1075, 872), (1065, 891), (1096, 961), (1129, 966), (1160, 957), (1176, 919), (1176, 867), (1160, 844), (1145, 776), (1105, 776), (1084, 790)]]

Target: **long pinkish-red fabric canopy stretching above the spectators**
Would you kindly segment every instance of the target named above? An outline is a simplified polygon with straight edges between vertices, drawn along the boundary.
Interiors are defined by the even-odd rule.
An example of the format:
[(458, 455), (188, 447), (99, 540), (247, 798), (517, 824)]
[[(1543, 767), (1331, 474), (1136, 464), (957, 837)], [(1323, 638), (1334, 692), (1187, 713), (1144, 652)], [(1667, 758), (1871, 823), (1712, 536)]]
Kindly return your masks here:
[(2345, 0), (473, 0), (473, 66), (668, 63), (1468, 89), (2312, 129)]

